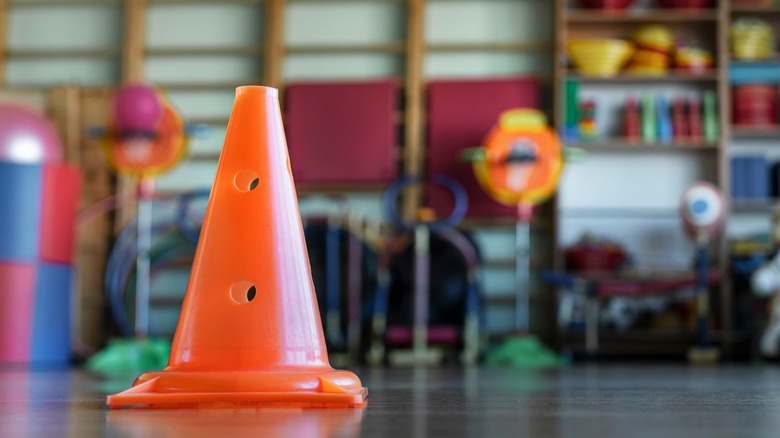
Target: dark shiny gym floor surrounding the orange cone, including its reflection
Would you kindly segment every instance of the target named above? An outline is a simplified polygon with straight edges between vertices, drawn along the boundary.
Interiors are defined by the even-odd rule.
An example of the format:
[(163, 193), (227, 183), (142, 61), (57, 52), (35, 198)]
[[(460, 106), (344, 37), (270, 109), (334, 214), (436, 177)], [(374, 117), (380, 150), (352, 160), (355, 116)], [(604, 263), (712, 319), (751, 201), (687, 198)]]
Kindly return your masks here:
[(358, 372), (354, 410), (114, 410), (78, 371), (0, 371), (0, 437), (773, 437), (780, 368), (574, 366)]

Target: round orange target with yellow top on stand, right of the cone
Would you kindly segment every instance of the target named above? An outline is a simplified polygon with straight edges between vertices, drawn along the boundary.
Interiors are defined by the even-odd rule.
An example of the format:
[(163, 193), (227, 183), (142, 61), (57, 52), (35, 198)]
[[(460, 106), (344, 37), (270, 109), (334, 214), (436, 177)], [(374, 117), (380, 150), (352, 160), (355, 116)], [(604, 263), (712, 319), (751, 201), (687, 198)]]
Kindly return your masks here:
[(538, 205), (549, 199), (563, 169), (561, 144), (544, 114), (514, 109), (501, 114), (482, 148), (466, 153), (479, 185), (496, 201)]

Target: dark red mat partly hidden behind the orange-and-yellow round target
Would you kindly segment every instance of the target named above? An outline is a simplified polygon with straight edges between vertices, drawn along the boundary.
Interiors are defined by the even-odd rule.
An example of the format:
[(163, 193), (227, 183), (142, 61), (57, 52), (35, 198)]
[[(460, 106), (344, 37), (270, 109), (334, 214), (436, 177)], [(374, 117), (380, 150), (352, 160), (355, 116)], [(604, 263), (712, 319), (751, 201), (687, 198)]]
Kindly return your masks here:
[[(464, 148), (480, 146), (499, 114), (510, 108), (539, 108), (537, 78), (440, 80), (428, 86), (428, 176), (437, 173), (463, 184), (468, 217), (512, 217), (515, 209), (493, 201), (479, 188), (471, 165), (460, 160)], [(440, 215), (452, 209), (451, 195), (428, 190), (428, 204)]]

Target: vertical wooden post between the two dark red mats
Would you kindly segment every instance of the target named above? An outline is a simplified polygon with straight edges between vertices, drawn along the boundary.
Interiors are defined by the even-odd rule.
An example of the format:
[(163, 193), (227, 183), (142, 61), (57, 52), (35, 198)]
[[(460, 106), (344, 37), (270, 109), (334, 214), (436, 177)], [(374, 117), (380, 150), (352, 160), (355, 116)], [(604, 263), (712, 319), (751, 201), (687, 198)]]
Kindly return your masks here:
[[(423, 56), (425, 54), (425, 0), (408, 0), (406, 39), (406, 107), (404, 108), (404, 174), (423, 176)], [(422, 189), (410, 187), (403, 197), (403, 215), (416, 216), (422, 205)]]

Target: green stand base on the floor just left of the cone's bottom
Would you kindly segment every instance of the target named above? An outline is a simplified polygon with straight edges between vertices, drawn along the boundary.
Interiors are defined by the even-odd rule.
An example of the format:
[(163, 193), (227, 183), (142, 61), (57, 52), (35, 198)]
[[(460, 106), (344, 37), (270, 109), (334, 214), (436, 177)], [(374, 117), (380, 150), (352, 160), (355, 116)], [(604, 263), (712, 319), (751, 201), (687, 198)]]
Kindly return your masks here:
[(168, 339), (114, 339), (87, 360), (86, 368), (104, 376), (138, 375), (168, 365)]

